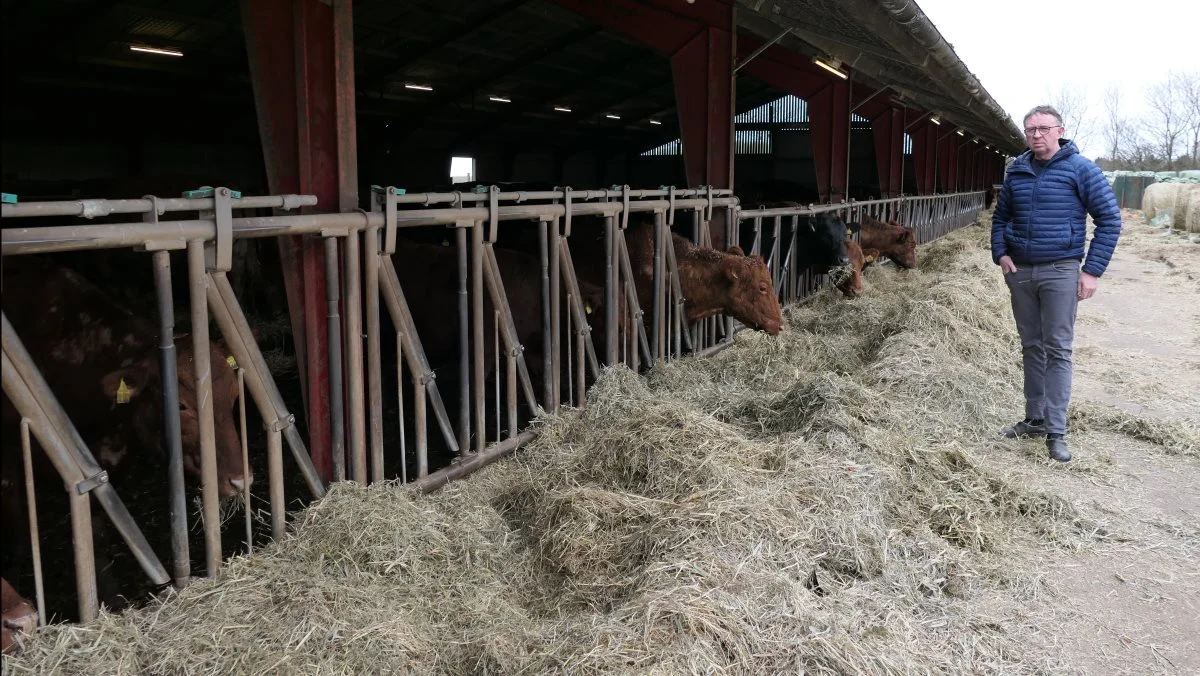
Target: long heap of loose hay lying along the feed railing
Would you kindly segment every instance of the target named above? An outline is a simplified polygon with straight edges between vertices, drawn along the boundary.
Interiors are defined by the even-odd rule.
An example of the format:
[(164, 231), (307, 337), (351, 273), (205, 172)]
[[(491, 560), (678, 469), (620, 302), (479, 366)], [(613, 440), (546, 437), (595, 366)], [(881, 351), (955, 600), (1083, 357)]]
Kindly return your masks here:
[[(919, 271), (826, 289), (432, 496), (336, 485), (218, 581), (52, 627), (14, 672), (1032, 672), (1015, 546), (1108, 537), (980, 454), (1019, 409), (1003, 282), (967, 228)], [(1088, 425), (1194, 451), (1188, 429)], [(1192, 441), (1188, 441), (1188, 439)]]

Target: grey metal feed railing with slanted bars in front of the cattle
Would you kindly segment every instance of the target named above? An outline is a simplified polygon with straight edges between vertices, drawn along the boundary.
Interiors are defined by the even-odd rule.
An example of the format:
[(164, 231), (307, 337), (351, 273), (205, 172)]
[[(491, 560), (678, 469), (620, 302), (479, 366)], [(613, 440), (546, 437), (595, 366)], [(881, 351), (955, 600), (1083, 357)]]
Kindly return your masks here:
[[(215, 575), (222, 552), (220, 539), (217, 465), (211, 408), (211, 378), (208, 363), (208, 319), (211, 316), (236, 360), (240, 401), (248, 390), (266, 426), (271, 536), (284, 528), (284, 442), (314, 497), (325, 486), (308, 457), (295, 418), (263, 359), (245, 313), (227, 279), (234, 239), (314, 235), (324, 239), (326, 255), (326, 321), (329, 324), (330, 378), (328, 382), (332, 431), (334, 480), (360, 483), (389, 478), (385, 471), (384, 391), (394, 385), (400, 445), (400, 477), (422, 491), (436, 490), (482, 467), (529, 441), (521, 431), (518, 408), (530, 414), (554, 411), (563, 405), (582, 406), (589, 379), (604, 366), (626, 364), (634, 370), (652, 367), (660, 360), (684, 354), (708, 355), (732, 345), (740, 324), (730, 317), (709, 317), (689, 325), (680, 282), (679, 261), (671, 245), (672, 233), (684, 233), (695, 245), (709, 246), (714, 223), (724, 228), (724, 241), (739, 244), (742, 223), (752, 225), (750, 253), (766, 259), (782, 303), (811, 294), (823, 277), (797, 269), (796, 227), (799, 219), (835, 211), (846, 221), (864, 214), (912, 227), (919, 243), (928, 243), (968, 225), (983, 207), (983, 192), (930, 197), (901, 197), (836, 205), (809, 205), (788, 209), (740, 209), (727, 190), (611, 190), (575, 191), (569, 187), (539, 192), (500, 192), (492, 186), (480, 192), (406, 195), (397, 189), (372, 192), (372, 210), (344, 214), (301, 214), (235, 217), (241, 209), (296, 209), (312, 207), (312, 196), (269, 196), (238, 198), (226, 189), (211, 197), (163, 199), (146, 197), (122, 201), (76, 201), (62, 203), (5, 204), (4, 217), (28, 216), (112, 216), (140, 215), (140, 221), (83, 226), (6, 228), (4, 256), (65, 251), (133, 247), (150, 253), (158, 299), (161, 373), (163, 378), (164, 430), (168, 448), (170, 527), (174, 567), (170, 578), (184, 585), (191, 574), (187, 551), (185, 478), (179, 423), (179, 391), (175, 373), (174, 307), (170, 286), (170, 251), (185, 251), (192, 317), (192, 346), (196, 354), (194, 383), (200, 406), (202, 502), (205, 531), (206, 569)], [(197, 217), (163, 221), (170, 211), (197, 211)], [(653, 222), (652, 293), (647, 307), (637, 293), (638, 270), (632, 267), (626, 232), (631, 219), (647, 227)], [(455, 303), (445, 315), (455, 318), (458, 409), (449, 411), (433, 364), (426, 353), (425, 336), (419, 335), (409, 299), (424, 288), (401, 283), (397, 264), (403, 265), (404, 240), (430, 228), (451, 228), (455, 262)], [(769, 228), (769, 237), (767, 237)], [(516, 233), (538, 264), (541, 307), (541, 382), (534, 382), (526, 347), (514, 316), (511, 280), (505, 280), (497, 256), (504, 235)], [(520, 238), (518, 238), (520, 239)], [(762, 251), (762, 243), (770, 241)], [(601, 256), (588, 247), (602, 241)], [(575, 246), (572, 247), (572, 244)], [(642, 256), (646, 252), (641, 252)], [(602, 259), (602, 279), (581, 279), (583, 256)], [(341, 263), (341, 267), (338, 265)], [(595, 270), (596, 268), (590, 268)], [(508, 282), (508, 285), (506, 285)], [(584, 303), (583, 283), (604, 289), (604, 312), (590, 312)], [(492, 315), (485, 321), (485, 305)], [(604, 322), (604, 335), (594, 336), (593, 325)], [(396, 337), (395, 378), (390, 378), (383, 353), (383, 336), (391, 324)], [(491, 325), (492, 335), (485, 335)], [(143, 569), (155, 584), (168, 580), (162, 564), (145, 543), (133, 519), (112, 486), (97, 483), (100, 472), (86, 443), (71, 426), (65, 412), (44, 384), (16, 331), (5, 319), (4, 389), (24, 418), (23, 430), (32, 431), (52, 455), (59, 474), (72, 492), (74, 545), (80, 617), (95, 616), (95, 570), (89, 570), (91, 532), (86, 496), (95, 495), (118, 525)], [(485, 364), (485, 341), (493, 346), (494, 361)], [(365, 345), (364, 345), (365, 343)], [(343, 367), (344, 365), (344, 367)], [(488, 375), (492, 382), (488, 383)], [(565, 394), (564, 394), (565, 383)], [(491, 387), (488, 387), (491, 385)], [(503, 385), (503, 388), (502, 388)], [(410, 391), (407, 399), (404, 393)], [(344, 403), (343, 403), (344, 402)], [(412, 413), (408, 414), (408, 406)], [(451, 413), (456, 419), (451, 420)], [(455, 461), (440, 469), (430, 466), (427, 417), (434, 419), (436, 437)], [(248, 467), (245, 411), (241, 413), (242, 462)], [(487, 430), (494, 430), (488, 435)], [(409, 473), (406, 439), (414, 439), (415, 472)], [(80, 489), (79, 486), (84, 486)], [(31, 486), (31, 484), (30, 484)], [(252, 542), (250, 485), (242, 496), (247, 508), (246, 542)], [(32, 502), (30, 502), (32, 504)], [(30, 510), (36, 558), (36, 514)], [(35, 562), (41, 579), (41, 563)], [(40, 586), (40, 585), (38, 585)], [(38, 590), (38, 602), (42, 600)]]

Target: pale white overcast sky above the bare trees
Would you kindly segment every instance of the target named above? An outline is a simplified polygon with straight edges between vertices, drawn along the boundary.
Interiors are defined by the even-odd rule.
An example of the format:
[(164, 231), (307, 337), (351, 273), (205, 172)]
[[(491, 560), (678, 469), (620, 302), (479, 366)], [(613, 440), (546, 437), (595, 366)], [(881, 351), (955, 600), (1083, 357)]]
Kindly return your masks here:
[[(1124, 113), (1148, 112), (1146, 89), (1169, 68), (1200, 71), (1200, 0), (917, 0), (988, 94), (1021, 116), (1064, 85), (1084, 89), (1099, 118), (1109, 86)], [(1074, 136), (1068, 128), (1067, 138)], [(1104, 155), (1094, 125), (1080, 151)]]

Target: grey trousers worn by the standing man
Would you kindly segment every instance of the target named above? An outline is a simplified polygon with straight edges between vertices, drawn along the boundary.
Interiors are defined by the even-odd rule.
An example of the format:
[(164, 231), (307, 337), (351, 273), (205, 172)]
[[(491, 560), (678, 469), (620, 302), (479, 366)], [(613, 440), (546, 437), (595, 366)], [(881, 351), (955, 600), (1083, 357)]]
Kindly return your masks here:
[(1020, 264), (1004, 275), (1025, 361), (1025, 417), (1067, 433), (1072, 345), (1079, 305), (1079, 261)]

